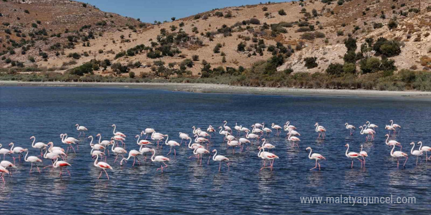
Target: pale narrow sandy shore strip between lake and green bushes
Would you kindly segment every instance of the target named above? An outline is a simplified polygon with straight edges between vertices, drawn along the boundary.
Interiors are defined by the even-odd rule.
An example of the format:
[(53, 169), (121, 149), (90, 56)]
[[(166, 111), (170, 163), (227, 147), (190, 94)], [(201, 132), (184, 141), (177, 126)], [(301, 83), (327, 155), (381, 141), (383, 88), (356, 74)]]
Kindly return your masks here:
[(216, 84), (184, 83), (91, 83), (91, 82), (18, 82), (0, 81), (0, 86), (75, 86), (75, 87), (120, 87), (142, 89), (165, 89), (170, 91), (206, 92), (206, 93), (240, 93), (263, 95), (313, 95), (313, 96), (346, 96), (346, 97), (403, 97), (430, 99), (431, 92), (422, 91), (379, 91), (350, 89), (300, 89), (288, 87), (251, 87)]

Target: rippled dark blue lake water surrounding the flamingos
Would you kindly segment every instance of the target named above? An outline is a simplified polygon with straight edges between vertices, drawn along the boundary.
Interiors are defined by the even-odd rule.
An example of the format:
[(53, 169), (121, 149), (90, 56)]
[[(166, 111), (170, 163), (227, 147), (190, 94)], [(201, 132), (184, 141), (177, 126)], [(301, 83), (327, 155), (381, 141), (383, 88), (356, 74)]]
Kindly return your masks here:
[[(134, 136), (145, 128), (169, 134), (169, 139), (180, 142), (178, 132), (192, 134), (192, 126), (218, 128), (224, 120), (233, 128), (235, 122), (250, 126), (265, 122), (283, 126), (288, 120), (301, 133), (299, 149), (293, 147), (283, 131), (280, 137), (266, 138), (276, 146), (271, 151), (280, 159), (274, 169), (260, 171), (262, 159), (257, 157), (256, 145), (241, 153), (226, 150), (222, 136), (215, 134), (210, 145), (231, 160), (230, 172), (207, 156), (202, 166), (188, 159), (192, 151), (184, 145), (177, 155), (168, 155), (169, 167), (156, 172), (159, 163), (140, 160), (120, 166), (108, 157), (114, 168), (108, 171), (111, 180), (93, 166), (91, 148), (86, 138), (80, 138), (79, 151), (70, 154), (68, 168), (72, 176), (59, 177), (59, 170), (37, 171), (29, 175), (29, 163), (18, 164), (6, 184), (0, 184), (0, 214), (428, 214), (431, 210), (431, 162), (425, 159), (416, 166), (410, 155), (410, 142), (423, 141), (431, 146), (431, 102), (393, 100), (383, 98), (349, 98), (317, 96), (269, 96), (239, 94), (207, 94), (143, 90), (127, 88), (79, 87), (0, 87), (0, 143), (3, 148), (28, 148), (29, 155), (37, 155), (31, 148), (30, 136), (36, 142), (53, 141), (66, 148), (60, 133), (77, 137), (76, 123), (86, 126), (90, 135), (112, 136), (112, 124), (127, 135), (127, 150), (139, 149)], [(406, 168), (397, 169), (396, 159), (384, 144), (384, 125), (393, 119), (402, 126), (396, 140), (408, 153)], [(366, 121), (379, 126), (373, 142), (356, 130), (353, 136), (345, 129), (348, 122), (357, 128)], [(314, 123), (327, 129), (327, 138), (317, 141)], [(275, 130), (274, 130), (275, 131)], [(350, 168), (351, 160), (344, 155), (344, 145), (359, 152), (361, 144), (368, 152), (366, 168), (358, 160)], [(321, 161), (321, 172), (310, 171), (314, 161), (305, 150), (327, 158)], [(154, 148), (154, 146), (152, 146)], [(417, 146), (415, 147), (416, 149)], [(399, 148), (396, 148), (399, 150)], [(166, 154), (168, 147), (156, 149), (157, 155)], [(430, 156), (431, 153), (429, 153)], [(12, 161), (10, 157), (7, 160)], [(18, 160), (17, 160), (18, 161)], [(43, 166), (50, 164), (44, 160)], [(416, 204), (301, 204), (305, 196), (382, 196), (415, 197)]]

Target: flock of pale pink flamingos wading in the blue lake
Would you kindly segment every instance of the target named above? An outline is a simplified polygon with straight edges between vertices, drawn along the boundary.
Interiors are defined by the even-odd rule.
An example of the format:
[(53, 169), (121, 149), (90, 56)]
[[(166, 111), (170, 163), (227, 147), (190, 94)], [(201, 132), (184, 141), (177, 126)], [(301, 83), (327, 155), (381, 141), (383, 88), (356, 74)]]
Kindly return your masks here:
[[(400, 133), (401, 126), (399, 126), (398, 124), (394, 124), (393, 120), (390, 120), (389, 122), (390, 125), (385, 126), (385, 129), (387, 129), (389, 133), (385, 134), (386, 140), (384, 144), (391, 148), (388, 154), (391, 157), (396, 158), (397, 168), (399, 168), (400, 166), (400, 158), (405, 158), (403, 163), (403, 167), (405, 167), (408, 159), (407, 153), (402, 151), (402, 145), (400, 142), (394, 139), (389, 139), (391, 137), (395, 137), (395, 134)], [(355, 126), (350, 125), (349, 123), (345, 123), (344, 126), (345, 129), (349, 130), (349, 135), (354, 134), (356, 130)], [(75, 127), (77, 131), (79, 131), (78, 137), (81, 134), (85, 136), (85, 131), (88, 132), (88, 129), (86, 127), (79, 126), (78, 124), (76, 124)], [(211, 140), (211, 138), (218, 133), (218, 135), (221, 135), (223, 137), (223, 143), (221, 145), (225, 144), (227, 149), (232, 148), (232, 154), (235, 154), (236, 148), (239, 148), (239, 150), (237, 151), (241, 153), (244, 148), (252, 147), (255, 144), (258, 150), (257, 157), (261, 158), (263, 161), (263, 165), (260, 170), (262, 171), (264, 169), (270, 169), (272, 171), (274, 168), (274, 161), (276, 159), (279, 159), (279, 156), (277, 156), (273, 152), (270, 152), (277, 147), (269, 143), (269, 141), (267, 140), (267, 137), (269, 137), (272, 133), (271, 129), (276, 130), (274, 135), (277, 136), (280, 135), (282, 130), (286, 131), (286, 139), (288, 142), (292, 143), (292, 146), (297, 146), (299, 148), (299, 142), (301, 141), (298, 137), (301, 136), (301, 134), (298, 132), (295, 126), (290, 124), (289, 121), (287, 121), (283, 127), (272, 123), (270, 127), (271, 129), (265, 127), (265, 123), (255, 123), (251, 125), (251, 130), (236, 123), (233, 127), (236, 131), (236, 135), (232, 134), (233, 130), (228, 126), (228, 122), (223, 121), (223, 124), (218, 127), (218, 129), (220, 129), (218, 132), (211, 125), (209, 125), (207, 129), (200, 129), (193, 126), (191, 130), (191, 135), (187, 132), (178, 132), (178, 140), (181, 139), (180, 142), (173, 140), (168, 134), (156, 132), (156, 130), (152, 128), (146, 128), (135, 136), (135, 138), (137, 139), (136, 144), (138, 145), (139, 149), (132, 149), (130, 151), (127, 151), (125, 143), (127, 136), (118, 130), (116, 131), (117, 126), (115, 124), (113, 124), (112, 127), (113, 136), (109, 138), (109, 140), (102, 140), (102, 136), (100, 133), (96, 134), (96, 137), (98, 137), (98, 141), (94, 140), (94, 137), (92, 135), (87, 137), (87, 139), (90, 140), (89, 146), (91, 149), (91, 157), (92, 159), (95, 159), (94, 166), (100, 170), (100, 174), (97, 179), (99, 179), (104, 172), (106, 174), (106, 178), (109, 180), (109, 174), (107, 170), (114, 170), (114, 168), (107, 163), (107, 157), (110, 156), (109, 151), (111, 151), (111, 153), (113, 153), (113, 155), (115, 156), (115, 159), (113, 161), (114, 164), (117, 162), (119, 156), (121, 157), (121, 160), (119, 162), (120, 166), (123, 166), (127, 163), (127, 161), (132, 158), (132, 167), (135, 166), (136, 162), (138, 163), (138, 165), (141, 165), (139, 157), (143, 157), (144, 161), (146, 161), (147, 155), (150, 155), (151, 162), (160, 164), (160, 168), (157, 168), (156, 172), (159, 170), (160, 172), (163, 172), (168, 168), (167, 163), (169, 163), (171, 159), (175, 159), (176, 148), (179, 148), (184, 145), (186, 149), (189, 148), (191, 150), (190, 154), (192, 154), (192, 156), (190, 156), (189, 158), (196, 158), (199, 165), (202, 165), (202, 158), (204, 156), (208, 156), (207, 164), (209, 164), (212, 158), (214, 162), (219, 163), (219, 172), (221, 171), (222, 163), (226, 164), (229, 172), (230, 164), (232, 163), (231, 159), (229, 159), (229, 156), (218, 154), (217, 149), (210, 150), (211, 146), (214, 146), (215, 144)], [(364, 125), (359, 126), (359, 133), (361, 135), (366, 135), (365, 141), (374, 141), (374, 137), (376, 136), (376, 129), (378, 128), (378, 126), (371, 124), (369, 121), (367, 121)], [(314, 131), (318, 133), (317, 139), (321, 139), (321, 141), (323, 141), (326, 138), (327, 129), (325, 129), (322, 125), (319, 125), (319, 123), (317, 122), (314, 124)], [(390, 134), (391, 131), (393, 135)], [(147, 140), (148, 138), (150, 140)], [(78, 150), (79, 142), (83, 141), (83, 139), (68, 137), (67, 133), (60, 134), (60, 139), (63, 144), (66, 144), (66, 150), (59, 146), (54, 146), (53, 142), (48, 142), (47, 144), (43, 142), (36, 142), (36, 137), (31, 136), (31, 147), (37, 151), (36, 154), (40, 153), (37, 156), (29, 155), (28, 148), (15, 146), (14, 143), (9, 144), (10, 149), (2, 148), (2, 145), (0, 144), (0, 155), (3, 155), (3, 161), (1, 161), (0, 163), (0, 178), (2, 179), (3, 183), (5, 183), (4, 174), (11, 174), (10, 168), (16, 167), (15, 160), (18, 158), (19, 162), (21, 163), (22, 157), (24, 157), (25, 162), (30, 163), (30, 174), (33, 171), (33, 166), (36, 167), (37, 172), (42, 173), (39, 168), (39, 165), (43, 164), (43, 159), (46, 159), (50, 160), (51, 165), (44, 167), (44, 169), (48, 167), (51, 167), (52, 169), (59, 168), (60, 176), (62, 175), (63, 170), (66, 170), (71, 176), (71, 172), (68, 168), (72, 168), (72, 164), (69, 163), (70, 161), (67, 160), (68, 154), (76, 153), (73, 146), (75, 145)], [(93, 143), (94, 141), (96, 143)], [(163, 149), (163, 145), (169, 147), (169, 152), (166, 154), (166, 156), (168, 156), (169, 154), (173, 154), (173, 158), (166, 157), (160, 154), (161, 150)], [(410, 145), (412, 146), (410, 154), (416, 156), (416, 165), (422, 164), (422, 157), (424, 156), (424, 154), (426, 157), (426, 161), (428, 162), (428, 160), (431, 158), (428, 157), (428, 151), (431, 152), (430, 147), (423, 146), (423, 143), (421, 141), (419, 141), (417, 144), (411, 142)], [(419, 148), (417, 150), (414, 150), (416, 145), (419, 145)], [(400, 147), (400, 150), (396, 151), (396, 147)], [(354, 167), (355, 160), (358, 160), (360, 162), (361, 168), (365, 167), (365, 158), (368, 157), (368, 153), (363, 150), (363, 145), (360, 145), (359, 152), (349, 151), (349, 144), (345, 144), (345, 148), (345, 156), (351, 160), (350, 168)], [(310, 151), (308, 158), (315, 161), (315, 166), (311, 168), (310, 171), (317, 169), (317, 167), (320, 171), (320, 161), (326, 160), (326, 158), (322, 154), (312, 153), (311, 147), (307, 147), (306, 151)], [(25, 156), (23, 155), (24, 153)], [(124, 155), (128, 156), (125, 157)], [(6, 156), (12, 157), (13, 163), (7, 161)], [(419, 157), (421, 157), (420, 164), (418, 164)], [(102, 161), (103, 158), (104, 161)]]

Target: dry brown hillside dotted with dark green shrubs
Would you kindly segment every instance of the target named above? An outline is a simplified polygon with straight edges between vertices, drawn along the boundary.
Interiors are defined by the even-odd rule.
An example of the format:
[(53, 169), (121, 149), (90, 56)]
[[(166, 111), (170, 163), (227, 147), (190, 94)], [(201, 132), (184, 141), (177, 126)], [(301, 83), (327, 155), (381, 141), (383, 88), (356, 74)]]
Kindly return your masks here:
[[(208, 71), (204, 61), (211, 71), (221, 71), (250, 68), (273, 54), (283, 54), (278, 71), (314, 73), (325, 72), (331, 63), (343, 64), (344, 41), (351, 36), (356, 39), (357, 52), (367, 38), (375, 42), (384, 37), (400, 43), (401, 53), (389, 57), (398, 70), (431, 68), (431, 0), (328, 1), (227, 7), (153, 25), (76, 1), (2, 1), (1, 20), (8, 25), (1, 27), (0, 50), (4, 52), (0, 67), (11, 67), (15, 62), (65, 71), (92, 59), (108, 59), (112, 64), (127, 65), (123, 71), (141, 77), (163, 77), (158, 70), (162, 63), (154, 63), (161, 60), (170, 71), (183, 71), (176, 75), (190, 77)], [(393, 20), (397, 26), (389, 30), (388, 23)], [(34, 36), (32, 41), (29, 34)], [(239, 50), (240, 43), (243, 49)], [(380, 58), (378, 53), (368, 54)], [(318, 66), (308, 69), (306, 57), (316, 57)], [(104, 67), (94, 73), (119, 75)]]

